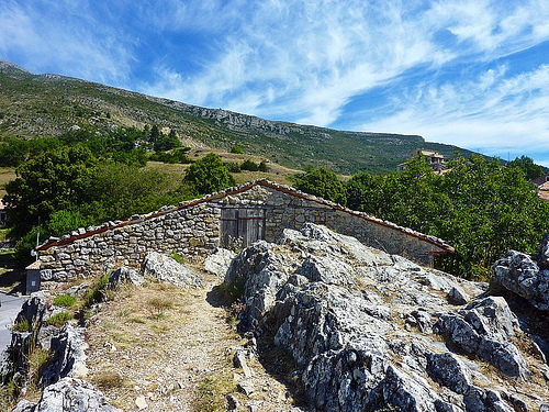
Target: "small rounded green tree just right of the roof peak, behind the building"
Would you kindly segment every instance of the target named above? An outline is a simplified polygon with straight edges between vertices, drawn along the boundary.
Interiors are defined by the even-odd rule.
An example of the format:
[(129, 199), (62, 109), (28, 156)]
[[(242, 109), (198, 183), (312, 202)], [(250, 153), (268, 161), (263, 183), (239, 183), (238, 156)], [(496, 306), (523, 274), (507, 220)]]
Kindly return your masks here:
[(295, 188), (336, 203), (346, 203), (344, 183), (325, 167), (309, 169), (294, 177)]

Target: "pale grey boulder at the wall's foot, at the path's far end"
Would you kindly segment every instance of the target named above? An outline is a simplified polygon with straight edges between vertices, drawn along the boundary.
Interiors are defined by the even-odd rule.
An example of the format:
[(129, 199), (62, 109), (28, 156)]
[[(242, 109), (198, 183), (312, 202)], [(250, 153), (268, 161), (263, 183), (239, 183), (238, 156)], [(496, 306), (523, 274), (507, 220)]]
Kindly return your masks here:
[(143, 259), (141, 272), (145, 277), (152, 277), (160, 282), (167, 282), (181, 288), (201, 288), (203, 279), (189, 270), (184, 265), (176, 259), (159, 254), (148, 252)]

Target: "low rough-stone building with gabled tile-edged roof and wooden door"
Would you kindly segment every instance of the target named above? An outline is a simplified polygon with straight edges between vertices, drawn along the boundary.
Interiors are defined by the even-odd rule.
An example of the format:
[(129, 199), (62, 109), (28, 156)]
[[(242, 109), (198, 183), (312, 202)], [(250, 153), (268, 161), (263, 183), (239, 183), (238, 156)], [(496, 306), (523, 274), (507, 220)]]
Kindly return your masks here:
[(40, 276), (42, 280), (65, 280), (122, 265), (139, 267), (149, 250), (198, 260), (220, 246), (276, 242), (284, 229), (298, 229), (305, 222), (326, 225), (423, 265), (453, 252), (439, 238), (260, 179), (127, 221), (52, 237), (36, 248)]

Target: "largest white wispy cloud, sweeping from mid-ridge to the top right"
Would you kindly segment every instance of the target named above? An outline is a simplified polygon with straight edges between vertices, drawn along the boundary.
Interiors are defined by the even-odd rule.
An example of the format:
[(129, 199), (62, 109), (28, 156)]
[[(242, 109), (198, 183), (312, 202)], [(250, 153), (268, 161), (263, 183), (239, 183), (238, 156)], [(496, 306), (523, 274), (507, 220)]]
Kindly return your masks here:
[[(212, 3), (215, 10), (226, 7)], [(215, 37), (215, 53), (202, 71), (175, 76), (176, 68), (163, 67), (157, 81), (141, 88), (329, 125), (354, 97), (407, 70), (491, 60), (547, 40), (549, 10), (542, 1), (272, 0), (248, 5), (244, 14), (233, 34)], [(449, 40), (440, 41), (441, 34)]]

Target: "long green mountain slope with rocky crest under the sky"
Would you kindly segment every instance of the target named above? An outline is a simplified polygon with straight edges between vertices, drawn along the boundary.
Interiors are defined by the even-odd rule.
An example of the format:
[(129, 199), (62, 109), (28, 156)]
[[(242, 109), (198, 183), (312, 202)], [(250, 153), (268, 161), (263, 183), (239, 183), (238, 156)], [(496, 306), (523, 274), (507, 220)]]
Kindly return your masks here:
[(238, 144), (246, 153), (283, 166), (325, 166), (340, 174), (394, 170), (416, 148), (435, 149), (448, 157), (456, 151), (471, 154), (417, 135), (270, 121), (58, 75), (34, 75), (0, 62), (0, 137), (53, 136), (72, 125), (104, 131), (146, 124), (176, 130), (191, 147), (229, 149)]

